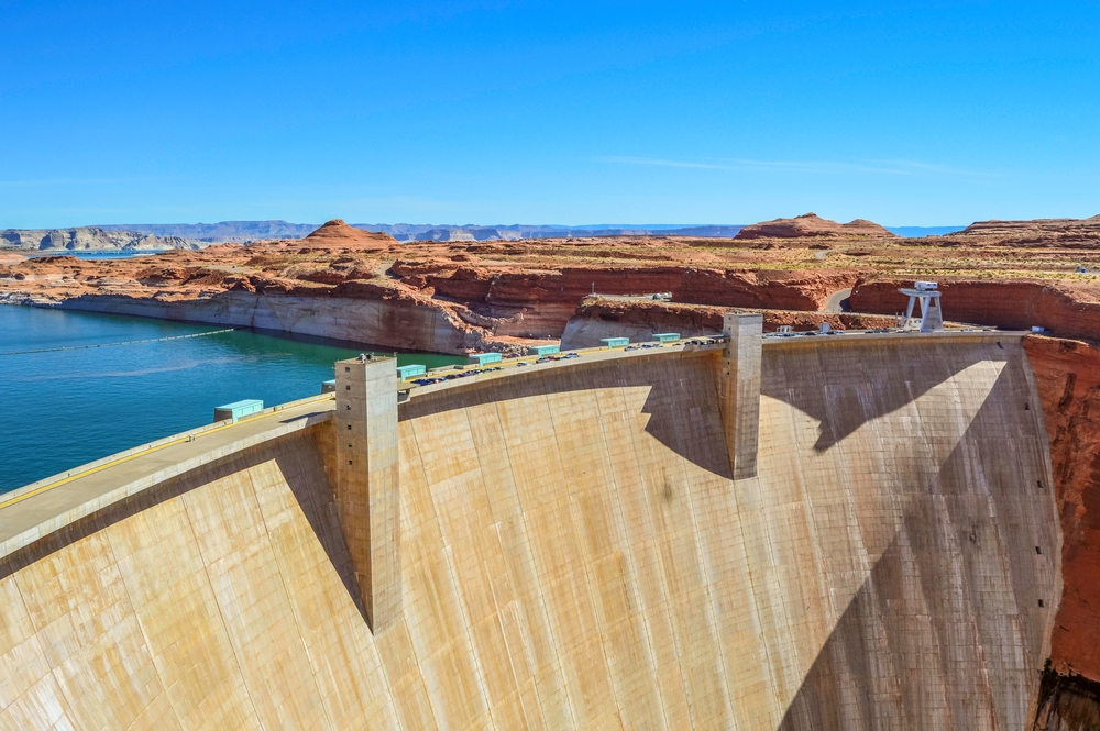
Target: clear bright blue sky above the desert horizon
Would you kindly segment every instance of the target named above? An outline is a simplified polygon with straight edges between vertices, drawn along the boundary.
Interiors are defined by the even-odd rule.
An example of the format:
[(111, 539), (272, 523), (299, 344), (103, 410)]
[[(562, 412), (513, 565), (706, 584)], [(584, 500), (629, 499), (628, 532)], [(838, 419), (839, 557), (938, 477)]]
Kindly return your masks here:
[(0, 0), (0, 229), (1100, 213), (1100, 2)]

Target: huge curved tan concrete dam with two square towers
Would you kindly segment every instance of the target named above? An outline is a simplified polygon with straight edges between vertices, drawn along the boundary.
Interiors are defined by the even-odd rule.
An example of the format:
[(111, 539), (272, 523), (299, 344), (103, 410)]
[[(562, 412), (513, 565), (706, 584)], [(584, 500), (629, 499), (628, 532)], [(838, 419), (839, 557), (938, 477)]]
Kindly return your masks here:
[(1020, 334), (726, 335), (337, 392), (0, 497), (0, 728), (1027, 729)]

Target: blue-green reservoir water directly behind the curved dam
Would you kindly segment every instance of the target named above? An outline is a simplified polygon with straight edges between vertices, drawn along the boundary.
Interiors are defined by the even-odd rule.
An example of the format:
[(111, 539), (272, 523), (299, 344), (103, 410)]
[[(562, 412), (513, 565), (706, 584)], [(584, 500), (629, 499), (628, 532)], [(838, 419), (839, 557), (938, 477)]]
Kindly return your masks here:
[[(215, 407), (222, 403), (256, 398), (272, 406), (314, 396), (321, 381), (333, 377), (333, 362), (370, 350), (237, 330), (25, 353), (223, 329), (0, 306), (0, 492), (210, 423)], [(448, 355), (398, 356), (402, 365), (462, 362)]]

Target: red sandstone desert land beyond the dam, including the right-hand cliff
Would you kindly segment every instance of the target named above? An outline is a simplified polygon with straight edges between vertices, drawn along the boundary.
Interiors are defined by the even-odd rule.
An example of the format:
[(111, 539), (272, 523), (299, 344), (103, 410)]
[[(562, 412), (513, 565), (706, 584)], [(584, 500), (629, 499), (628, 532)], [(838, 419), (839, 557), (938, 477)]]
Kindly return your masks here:
[[(1047, 331), (1024, 341), (1065, 534), (1045, 697), (1078, 724), (1036, 728), (1100, 722), (1100, 217), (979, 222), (926, 239), (859, 221), (787, 221), (801, 223), (766, 222), (732, 240), (410, 244), (331, 221), (298, 241), (136, 259), (0, 253), (0, 301), (515, 353), (563, 335), (580, 346), (619, 332), (714, 332), (732, 307), (762, 311), (766, 330), (881, 328), (904, 307), (900, 286), (937, 280), (954, 322)], [(814, 230), (826, 235), (791, 233)]]

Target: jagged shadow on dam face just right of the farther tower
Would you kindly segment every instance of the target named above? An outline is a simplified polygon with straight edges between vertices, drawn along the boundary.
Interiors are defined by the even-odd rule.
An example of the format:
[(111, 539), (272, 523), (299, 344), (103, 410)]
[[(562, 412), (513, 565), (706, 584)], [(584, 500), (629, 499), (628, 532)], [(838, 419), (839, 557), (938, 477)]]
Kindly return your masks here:
[[(893, 362), (890, 367), (871, 368), (859, 358), (860, 351), (853, 348), (842, 370), (835, 352), (826, 348), (765, 348), (760, 395), (789, 403), (816, 420), (821, 435), (814, 451), (820, 453), (827, 452), (865, 423), (905, 408), (970, 366), (1009, 359), (999, 343), (971, 344), (957, 348), (952, 358), (939, 359), (922, 358), (921, 350), (919, 341), (895, 345), (889, 351)], [(911, 370), (905, 365), (908, 359), (917, 361), (925, 377), (902, 380), (903, 374)], [(783, 377), (784, 369), (813, 374), (812, 385), (784, 388), (784, 384), (794, 380)], [(801, 383), (805, 381), (803, 377)]]

